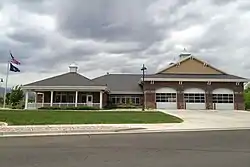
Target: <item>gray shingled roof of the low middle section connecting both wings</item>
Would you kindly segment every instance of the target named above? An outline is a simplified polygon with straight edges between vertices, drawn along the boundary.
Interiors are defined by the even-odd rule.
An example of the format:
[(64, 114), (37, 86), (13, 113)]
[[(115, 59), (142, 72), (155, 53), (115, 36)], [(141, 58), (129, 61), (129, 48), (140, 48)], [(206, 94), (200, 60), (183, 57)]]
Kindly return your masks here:
[(112, 92), (141, 92), (139, 85), (141, 74), (107, 74), (93, 79), (95, 82), (107, 84)]

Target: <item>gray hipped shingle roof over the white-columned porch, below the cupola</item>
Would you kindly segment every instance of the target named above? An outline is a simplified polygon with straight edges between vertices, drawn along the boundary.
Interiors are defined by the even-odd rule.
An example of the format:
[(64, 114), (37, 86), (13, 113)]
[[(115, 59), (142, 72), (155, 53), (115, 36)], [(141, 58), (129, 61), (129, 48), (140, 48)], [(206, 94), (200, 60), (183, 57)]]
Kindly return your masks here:
[(68, 72), (24, 86), (105, 86), (105, 84), (94, 82), (75, 72)]

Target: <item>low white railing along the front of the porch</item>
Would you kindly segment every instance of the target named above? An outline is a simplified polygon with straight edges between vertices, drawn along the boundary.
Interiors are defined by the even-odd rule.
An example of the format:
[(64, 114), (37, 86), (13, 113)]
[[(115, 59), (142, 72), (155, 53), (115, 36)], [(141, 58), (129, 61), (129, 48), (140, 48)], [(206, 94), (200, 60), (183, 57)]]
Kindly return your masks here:
[[(53, 103), (52, 107), (74, 107), (75, 103)], [(91, 106), (100, 107), (100, 103), (77, 103), (77, 107)], [(27, 109), (38, 109), (41, 107), (50, 107), (50, 103), (28, 103)]]

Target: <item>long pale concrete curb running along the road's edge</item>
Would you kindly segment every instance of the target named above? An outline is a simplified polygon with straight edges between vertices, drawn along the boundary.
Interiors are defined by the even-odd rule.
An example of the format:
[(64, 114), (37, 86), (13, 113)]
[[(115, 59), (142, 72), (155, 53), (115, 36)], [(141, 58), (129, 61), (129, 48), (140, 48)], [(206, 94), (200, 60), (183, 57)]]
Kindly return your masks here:
[(107, 131), (57, 131), (57, 132), (40, 132), (40, 133), (5, 133), (0, 132), (1, 137), (37, 137), (37, 136), (75, 136), (75, 135), (114, 135), (114, 134), (145, 134), (145, 133), (174, 133), (174, 132), (206, 132), (206, 131), (235, 131), (250, 130), (249, 128), (203, 128), (203, 129), (166, 129), (166, 130), (141, 130), (141, 128), (132, 128), (124, 130), (107, 130)]

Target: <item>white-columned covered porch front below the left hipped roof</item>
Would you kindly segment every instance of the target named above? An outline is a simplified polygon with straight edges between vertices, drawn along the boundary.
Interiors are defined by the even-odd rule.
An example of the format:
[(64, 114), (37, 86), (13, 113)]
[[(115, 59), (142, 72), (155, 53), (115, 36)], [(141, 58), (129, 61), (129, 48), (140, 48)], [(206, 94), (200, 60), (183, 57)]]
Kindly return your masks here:
[[(23, 86), (25, 109), (41, 107), (80, 107), (103, 108), (106, 103), (106, 86)], [(30, 92), (35, 93), (34, 102), (29, 101)]]

